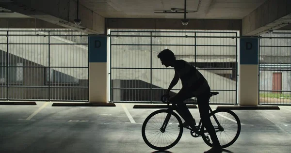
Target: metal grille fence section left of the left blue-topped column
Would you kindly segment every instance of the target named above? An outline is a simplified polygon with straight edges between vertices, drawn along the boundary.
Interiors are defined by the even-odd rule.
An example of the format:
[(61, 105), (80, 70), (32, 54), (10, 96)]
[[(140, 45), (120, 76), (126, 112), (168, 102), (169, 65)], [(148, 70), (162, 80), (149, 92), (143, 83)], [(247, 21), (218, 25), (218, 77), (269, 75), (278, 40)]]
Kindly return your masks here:
[(88, 35), (0, 29), (0, 99), (88, 101)]

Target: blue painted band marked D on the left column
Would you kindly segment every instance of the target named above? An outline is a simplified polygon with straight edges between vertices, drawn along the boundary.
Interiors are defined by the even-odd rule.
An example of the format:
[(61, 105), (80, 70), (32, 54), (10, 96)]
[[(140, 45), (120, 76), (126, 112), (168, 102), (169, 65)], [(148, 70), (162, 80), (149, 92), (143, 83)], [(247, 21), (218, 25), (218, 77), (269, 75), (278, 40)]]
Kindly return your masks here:
[(107, 62), (107, 37), (89, 35), (89, 62)]

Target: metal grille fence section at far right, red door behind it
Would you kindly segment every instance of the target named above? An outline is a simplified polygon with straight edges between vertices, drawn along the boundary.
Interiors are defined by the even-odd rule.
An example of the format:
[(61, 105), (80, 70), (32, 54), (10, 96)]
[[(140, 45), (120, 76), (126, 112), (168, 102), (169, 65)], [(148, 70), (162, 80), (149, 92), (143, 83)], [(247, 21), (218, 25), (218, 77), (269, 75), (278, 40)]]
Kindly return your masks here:
[(291, 31), (261, 36), (272, 38), (259, 40), (259, 104), (291, 105)]

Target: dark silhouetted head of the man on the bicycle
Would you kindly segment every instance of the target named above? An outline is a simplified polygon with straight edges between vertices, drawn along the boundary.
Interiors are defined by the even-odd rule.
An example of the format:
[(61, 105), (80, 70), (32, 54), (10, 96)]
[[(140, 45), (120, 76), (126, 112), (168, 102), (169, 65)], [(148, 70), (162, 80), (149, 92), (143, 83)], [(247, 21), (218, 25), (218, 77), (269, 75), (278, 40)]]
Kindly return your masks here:
[(159, 53), (158, 58), (161, 60), (162, 65), (165, 65), (165, 67), (173, 67), (176, 61), (174, 53), (169, 49), (162, 50)]

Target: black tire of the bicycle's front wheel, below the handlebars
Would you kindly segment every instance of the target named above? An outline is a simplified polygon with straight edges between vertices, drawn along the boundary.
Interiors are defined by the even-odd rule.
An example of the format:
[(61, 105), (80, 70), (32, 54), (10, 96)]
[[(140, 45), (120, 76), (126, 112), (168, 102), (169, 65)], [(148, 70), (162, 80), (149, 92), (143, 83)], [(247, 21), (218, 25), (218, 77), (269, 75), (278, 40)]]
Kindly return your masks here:
[[(178, 114), (172, 111), (171, 117), (174, 116), (177, 119), (178, 124), (180, 125), (180, 127), (178, 127), (178, 124), (177, 124), (177, 128), (179, 128), (178, 129), (179, 130), (178, 137), (177, 137), (177, 139), (174, 142), (172, 142), (171, 144), (169, 144), (167, 146), (164, 146), (164, 147), (155, 146), (151, 142), (149, 142), (149, 140), (146, 137), (146, 125), (147, 125), (148, 121), (152, 117), (154, 117), (155, 115), (157, 115), (159, 113), (166, 113), (166, 114), (168, 114), (168, 110), (167, 109), (160, 109), (160, 110), (156, 110), (156, 111), (152, 112), (151, 114), (149, 114), (146, 117), (146, 120), (144, 121), (143, 126), (142, 126), (142, 136), (143, 136), (143, 139), (146, 142), (146, 145), (147, 146), (149, 146), (150, 148), (152, 148), (154, 150), (163, 151), (163, 150), (167, 150), (167, 149), (170, 149), (170, 148), (174, 147), (178, 143), (178, 141), (180, 140), (180, 138), (182, 137), (182, 134), (183, 134), (183, 127), (182, 127), (183, 123), (182, 123), (180, 117), (178, 116)], [(164, 120), (161, 120), (161, 121), (163, 122)], [(176, 125), (174, 124), (174, 126), (176, 126)], [(167, 127), (170, 127), (170, 126), (167, 126)], [(167, 130), (167, 128), (166, 128), (166, 130)]]

